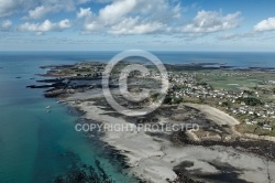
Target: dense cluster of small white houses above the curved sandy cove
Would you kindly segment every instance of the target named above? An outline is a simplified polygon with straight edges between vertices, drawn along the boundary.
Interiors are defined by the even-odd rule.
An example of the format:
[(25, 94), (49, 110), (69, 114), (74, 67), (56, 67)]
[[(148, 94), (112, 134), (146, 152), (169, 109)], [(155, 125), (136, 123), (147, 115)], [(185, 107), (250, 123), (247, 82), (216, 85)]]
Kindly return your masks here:
[[(241, 75), (241, 73), (237, 74)], [(227, 73), (224, 73), (224, 75), (227, 75)], [(206, 83), (198, 82), (196, 78), (197, 74), (170, 76), (172, 88), (176, 88), (172, 90), (173, 93), (170, 95), (176, 98), (211, 98), (220, 108), (223, 107), (227, 112), (235, 117), (245, 117), (246, 125), (261, 123), (262, 129), (273, 130), (272, 125), (275, 125), (275, 103), (265, 103), (262, 106), (249, 106), (244, 101), (238, 103), (238, 98), (248, 98), (251, 95), (255, 98), (260, 98), (260, 92), (248, 94), (246, 92), (218, 90)]]

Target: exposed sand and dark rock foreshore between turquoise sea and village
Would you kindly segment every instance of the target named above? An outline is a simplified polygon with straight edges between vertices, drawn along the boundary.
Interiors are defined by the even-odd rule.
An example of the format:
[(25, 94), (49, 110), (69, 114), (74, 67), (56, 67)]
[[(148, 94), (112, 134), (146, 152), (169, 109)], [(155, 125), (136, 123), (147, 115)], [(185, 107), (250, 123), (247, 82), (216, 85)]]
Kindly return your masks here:
[[(90, 65), (94, 66), (95, 63), (90, 63)], [(65, 67), (70, 66), (66, 65)], [(62, 66), (58, 66), (58, 68), (63, 69)], [(50, 72), (50, 75), (44, 75), (63, 77), (62, 82), (61, 78), (56, 78), (57, 80), (42, 80), (57, 82), (56, 87), (46, 90), (45, 94), (53, 94), (50, 97), (57, 97), (59, 101), (82, 111), (82, 118), (90, 121), (90, 123), (130, 125), (135, 127), (136, 123), (130, 122), (132, 118), (121, 116), (110, 108), (102, 95), (100, 84), (80, 84), (73, 88), (67, 88), (69, 85), (67, 84), (64, 89), (64, 79), (79, 79), (78, 77), (75, 78), (75, 76), (63, 75), (59, 69)], [(95, 77), (80, 77), (81, 79), (95, 82)], [(97, 77), (97, 79), (100, 78)], [(33, 88), (36, 88), (36, 86), (33, 86)], [(112, 87), (112, 94), (119, 94), (117, 89), (117, 87)], [(61, 94), (55, 95), (55, 90), (61, 92)], [(168, 109), (167, 114), (165, 107)], [(179, 114), (175, 112), (175, 109), (178, 109)], [(188, 114), (186, 117), (183, 115), (185, 112)], [(246, 183), (256, 181), (265, 183), (275, 179), (274, 175), (266, 174), (266, 172), (275, 171), (274, 153), (265, 155), (265, 148), (261, 147), (261, 151), (255, 151), (251, 147), (253, 144), (257, 147), (262, 142), (260, 140), (268, 139), (250, 138), (235, 131), (234, 127), (240, 122), (224, 111), (208, 105), (184, 103), (179, 106), (161, 107), (160, 111), (156, 110), (156, 114), (152, 118), (150, 117), (148, 121), (156, 121), (158, 125), (185, 123), (188, 122), (185, 119), (194, 119), (194, 116), (197, 116), (198, 119), (196, 120), (202, 122), (200, 125), (205, 126), (204, 122), (206, 122), (206, 126), (213, 126), (213, 129), (218, 131), (223, 126), (228, 126), (229, 128), (224, 131), (222, 129), (221, 132), (229, 133), (230, 138), (224, 140), (220, 136), (216, 139), (207, 137), (204, 140), (193, 131), (173, 133), (170, 131), (132, 130), (118, 132), (105, 130), (100, 136), (100, 140), (106, 146), (114, 149), (118, 154), (124, 157), (123, 161), (131, 176), (139, 177), (144, 182), (222, 182), (227, 177), (229, 182)], [(146, 122), (146, 120), (142, 121)], [(87, 132), (87, 137), (91, 137), (89, 132)], [(239, 139), (242, 141), (239, 141)], [(254, 140), (253, 143), (250, 142), (251, 140)], [(273, 149), (267, 150), (272, 151)]]

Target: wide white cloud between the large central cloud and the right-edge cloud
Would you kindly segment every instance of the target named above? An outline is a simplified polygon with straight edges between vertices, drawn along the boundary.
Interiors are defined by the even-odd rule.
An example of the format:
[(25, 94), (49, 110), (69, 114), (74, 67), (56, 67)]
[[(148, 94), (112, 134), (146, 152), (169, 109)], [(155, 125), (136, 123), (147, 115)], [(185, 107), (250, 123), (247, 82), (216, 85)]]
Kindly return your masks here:
[(182, 32), (211, 33), (234, 29), (240, 23), (240, 12), (222, 15), (216, 11), (199, 11), (191, 23), (184, 25)]

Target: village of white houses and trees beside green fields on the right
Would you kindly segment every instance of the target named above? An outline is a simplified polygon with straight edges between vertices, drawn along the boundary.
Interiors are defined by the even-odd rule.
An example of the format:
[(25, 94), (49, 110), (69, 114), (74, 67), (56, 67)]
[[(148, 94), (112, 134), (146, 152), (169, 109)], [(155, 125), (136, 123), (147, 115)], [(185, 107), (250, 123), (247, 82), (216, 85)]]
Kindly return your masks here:
[[(251, 76), (251, 72), (223, 72), (224, 76)], [(170, 89), (168, 98), (170, 104), (199, 103), (219, 108), (233, 116), (242, 125), (253, 126), (256, 129), (271, 131), (274, 136), (275, 127), (275, 82), (262, 80), (261, 87), (229, 90), (216, 88), (204, 82), (213, 73), (170, 73)], [(217, 76), (215, 76), (217, 77)], [(235, 84), (237, 85), (237, 84)], [(272, 88), (272, 89), (267, 89)], [(249, 127), (250, 128), (250, 127)]]

